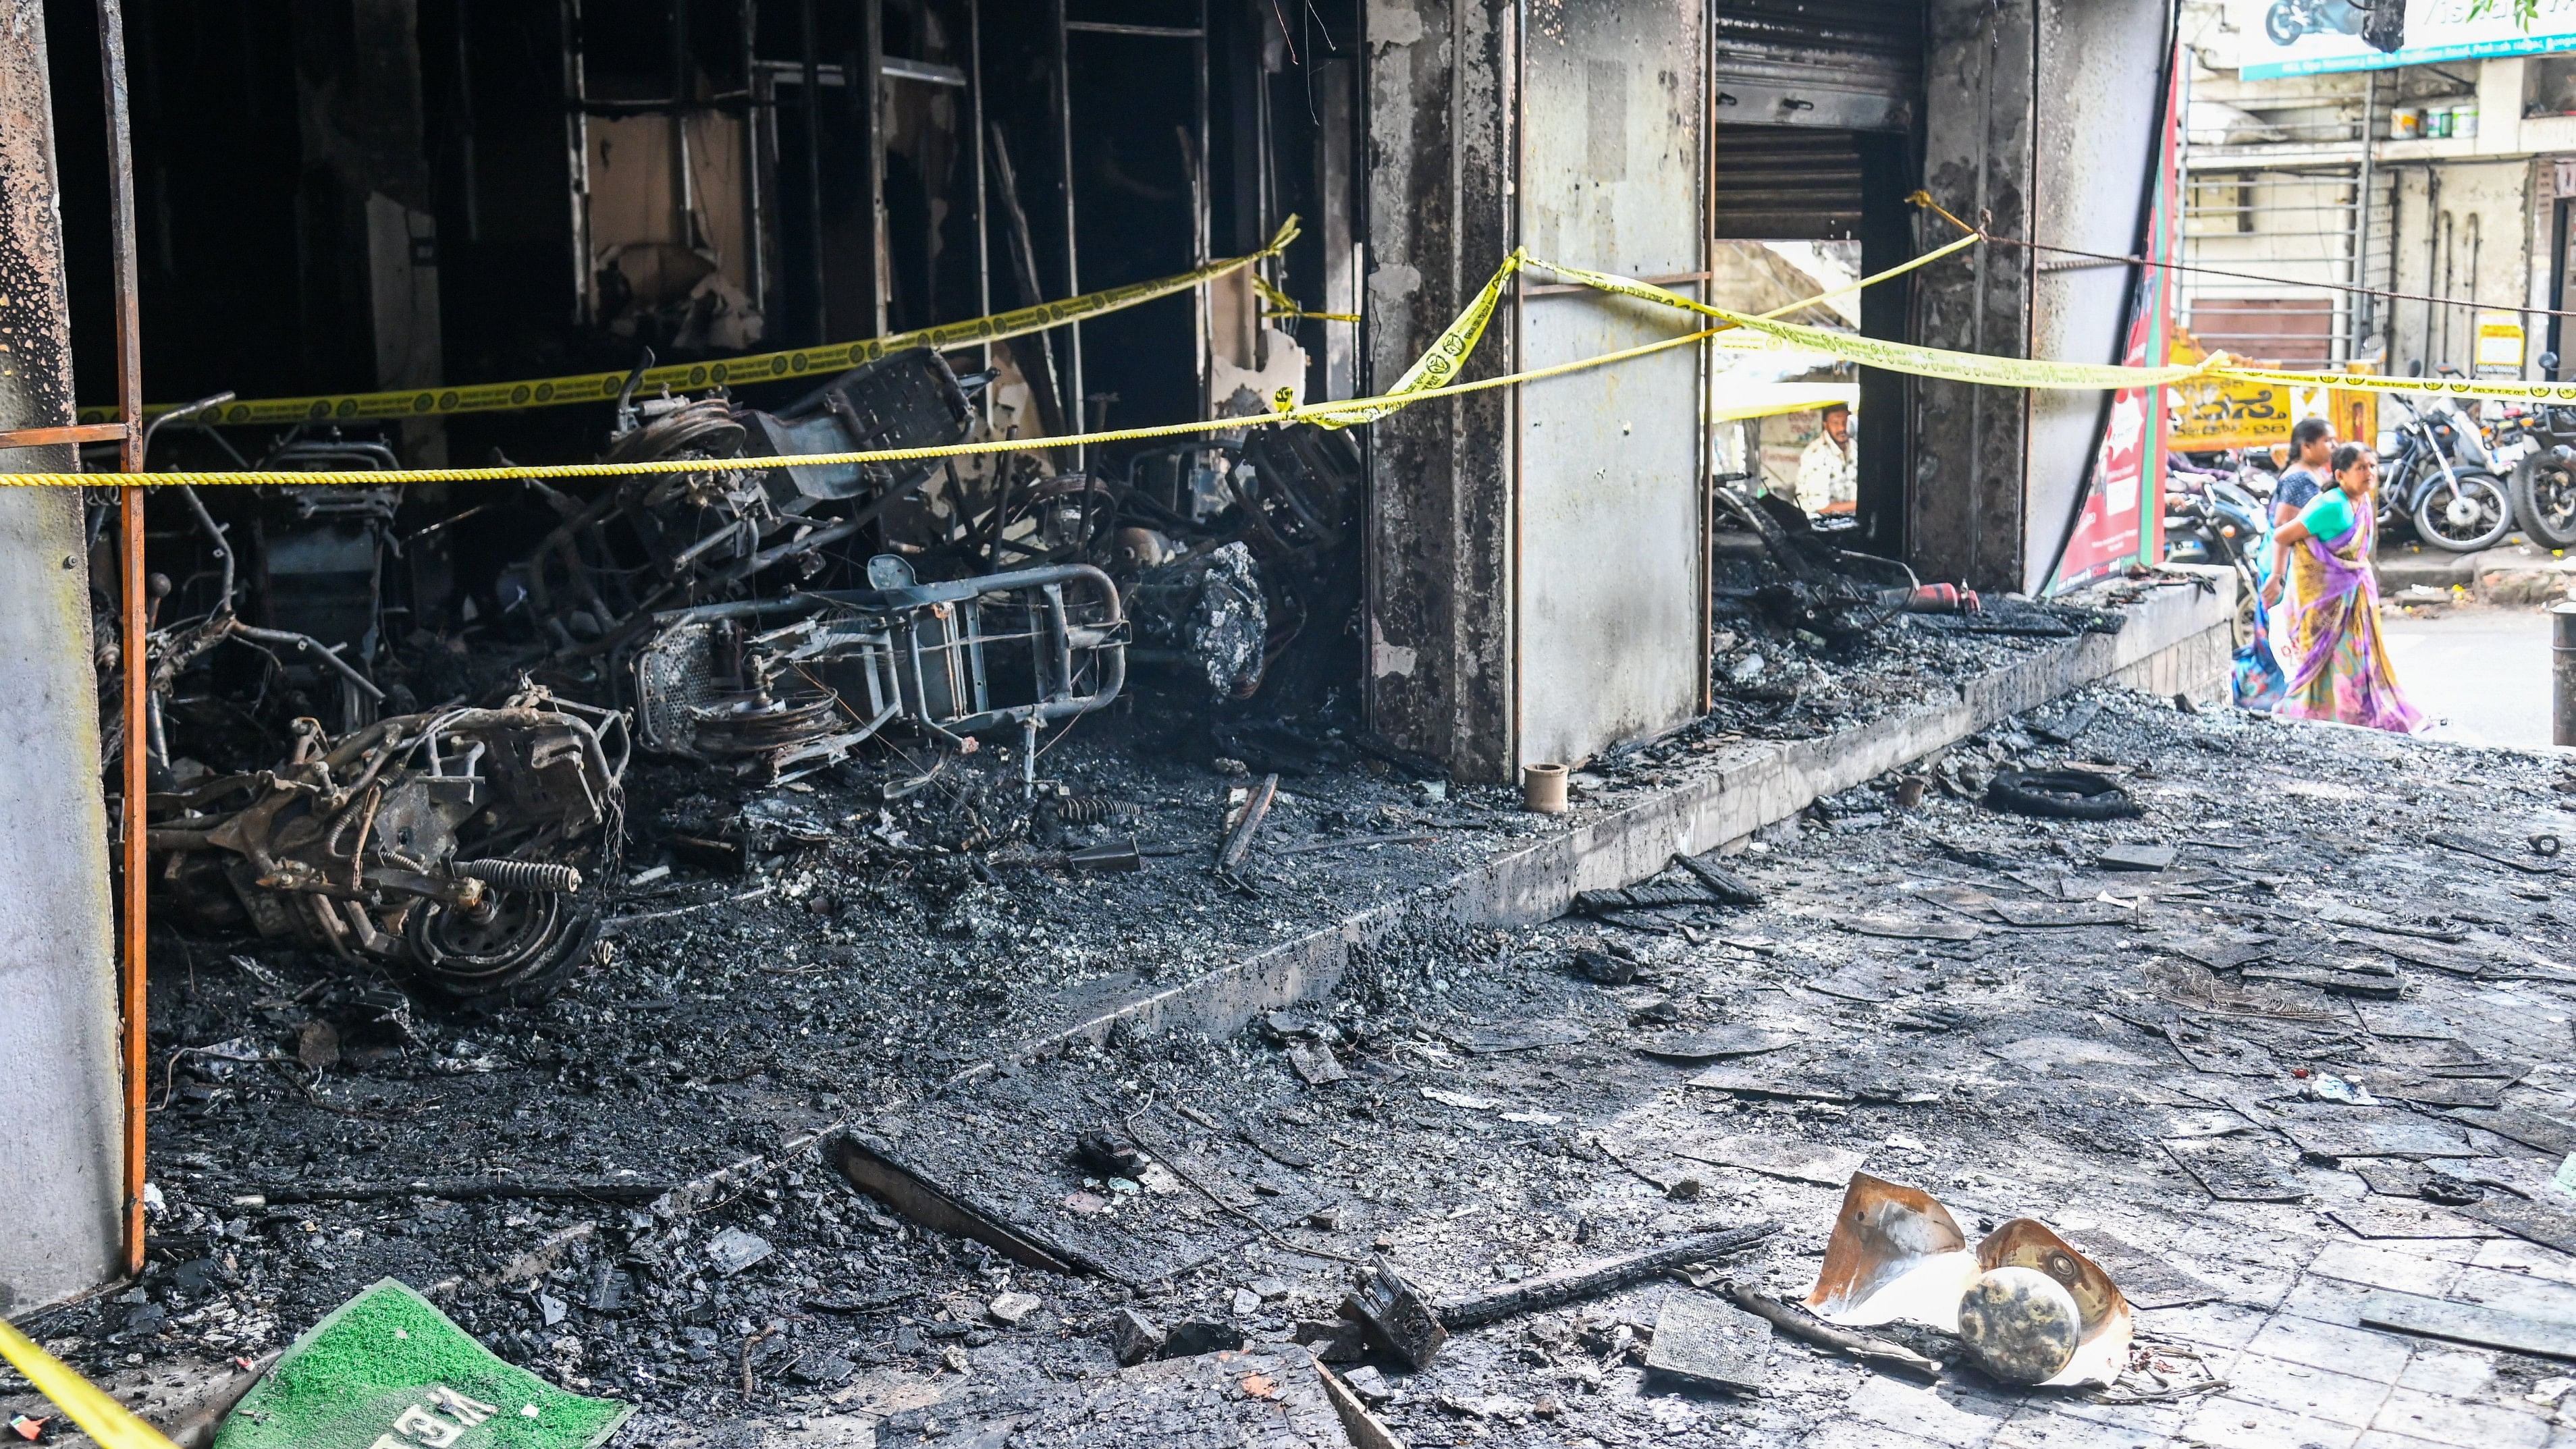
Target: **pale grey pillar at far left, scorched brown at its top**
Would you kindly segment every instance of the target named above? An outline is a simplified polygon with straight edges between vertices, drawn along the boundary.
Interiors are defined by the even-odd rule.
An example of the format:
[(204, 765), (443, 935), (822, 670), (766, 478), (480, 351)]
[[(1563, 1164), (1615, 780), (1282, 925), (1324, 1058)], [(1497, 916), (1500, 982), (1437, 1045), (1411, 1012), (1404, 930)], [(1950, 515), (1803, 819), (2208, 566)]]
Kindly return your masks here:
[[(41, 0), (0, 0), (0, 427), (72, 422)], [(0, 461), (72, 468), (72, 448)], [(0, 489), (0, 1313), (113, 1279), (121, 1104), (80, 494)]]

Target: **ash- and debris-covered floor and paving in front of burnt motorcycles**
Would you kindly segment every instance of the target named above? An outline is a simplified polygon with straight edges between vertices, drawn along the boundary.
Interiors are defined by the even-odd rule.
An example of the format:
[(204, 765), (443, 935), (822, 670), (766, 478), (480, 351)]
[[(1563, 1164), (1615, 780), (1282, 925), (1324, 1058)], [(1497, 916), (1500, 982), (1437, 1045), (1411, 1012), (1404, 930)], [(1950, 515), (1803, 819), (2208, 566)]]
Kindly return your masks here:
[[(979, 829), (971, 793), (878, 816), (855, 788), (817, 782), (773, 800), (832, 821), (832, 842), (796, 849), (788, 831), (762, 875), (683, 865), (670, 896), (634, 893), (621, 911), (654, 919), (564, 999), (350, 1024), (340, 1042), (304, 1027), (345, 991), (335, 975), (196, 945), (157, 1022), (196, 1048), (173, 1053), (155, 1117), (157, 1266), (33, 1328), (98, 1374), (178, 1372), (273, 1349), (394, 1274), (505, 1356), (644, 1403), (626, 1444), (896, 1444), (1015, 1423), (1048, 1441), (1188, 1441), (1226, 1413), (1321, 1418), (1303, 1398), (1267, 1421), (1262, 1395), (1247, 1403), (1247, 1380), (1288, 1372), (1216, 1356), (1121, 1372), (1121, 1313), (1262, 1343), (1334, 1318), (1350, 1282), (1334, 1259), (1383, 1253), (1463, 1295), (1765, 1217), (1783, 1230), (1713, 1274), (1795, 1297), (1839, 1174), (1860, 1166), (1935, 1192), (1971, 1230), (2035, 1215), (2069, 1233), (2138, 1300), (2179, 1398), (2002, 1390), (1965, 1369), (1922, 1387), (1785, 1338), (1759, 1395), (1677, 1390), (1641, 1367), (1662, 1300), (1703, 1292), (1677, 1277), (1458, 1333), (1419, 1374), (1378, 1359), (1363, 1385), (1391, 1395), (1378, 1413), (1409, 1444), (2576, 1439), (2545, 1403), (2548, 1359), (2360, 1328), (2372, 1292), (2576, 1313), (2576, 1259), (2496, 1225), (2532, 1228), (2532, 1212), (2481, 1207), (2571, 1212), (2548, 1186), (2576, 1145), (2553, 1138), (2576, 1138), (2553, 1122), (2576, 1117), (2558, 880), (2432, 842), (2548, 867), (2522, 842), (2563, 826), (2561, 770), (2123, 692), (2094, 703), (2081, 731), (2079, 708), (2053, 705), (1927, 770), (2107, 762), (2141, 821), (2040, 824), (1937, 788), (1906, 811), (1865, 788), (1826, 800), (1832, 824), (1775, 826), (1734, 860), (1767, 891), (1759, 909), (1643, 921), (1669, 934), (1425, 929), (1368, 950), (1332, 1001), (1239, 1037), (1113, 1037), (945, 1089), (1056, 1019), (1066, 988), (1188, 970), (1538, 826), (1499, 795), (1435, 800), (1399, 775), (1291, 780), (1273, 847), (1437, 839), (1265, 854), (1262, 896), (1242, 896), (1203, 872), (1224, 780), (1182, 752), (1133, 764), (1149, 741), (1084, 736), (1064, 749), (1097, 754), (1064, 775), (1097, 770), (1095, 793), (1149, 811), (1074, 839), (1133, 831), (1188, 854), (1126, 878), (979, 872), (933, 849)], [(1623, 764), (1628, 780), (1659, 770)], [(703, 808), (688, 803), (703, 785), (641, 780), (639, 821)], [(2117, 844), (2177, 860), (2099, 870)], [(2084, 924), (2027, 924), (2043, 919)], [(1963, 929), (1973, 939), (1914, 939)], [(1636, 981), (1589, 978), (1610, 947), (1636, 957)], [(343, 1001), (335, 1019), (363, 1009)], [(1718, 1027), (1780, 1045), (1687, 1063), (1641, 1050)], [(1311, 1068), (1319, 1045), (1347, 1081), (1293, 1071), (1291, 1048)], [(299, 1048), (337, 1060), (227, 1060)], [(2326, 1076), (2385, 1107), (2318, 1099)], [(829, 1122), (1103, 1271), (927, 1233), (850, 1192), (840, 1153), (781, 1153)], [(1128, 1194), (1087, 1174), (1072, 1145), (1103, 1125), (1190, 1181), (1149, 1174)], [(2424, 1132), (2439, 1181), (2354, 1153), (2424, 1150)], [(2215, 1202), (2187, 1171), (2213, 1140), (2282, 1202)], [(734, 1161), (755, 1166), (652, 1210)], [(291, 1202), (430, 1179), (451, 1197)], [(505, 1181), (559, 1197), (477, 1194)], [(2437, 1204), (2427, 1184), (2478, 1202)]]

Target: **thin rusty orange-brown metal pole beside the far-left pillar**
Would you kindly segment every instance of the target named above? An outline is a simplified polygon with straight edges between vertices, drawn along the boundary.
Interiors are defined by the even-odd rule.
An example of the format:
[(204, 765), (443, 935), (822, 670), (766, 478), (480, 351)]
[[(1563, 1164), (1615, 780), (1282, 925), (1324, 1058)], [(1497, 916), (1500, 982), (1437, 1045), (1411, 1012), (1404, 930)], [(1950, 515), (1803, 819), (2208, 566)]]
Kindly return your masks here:
[[(98, 62), (106, 72), (108, 98), (108, 263), (116, 268), (116, 420), (126, 435), (116, 448), (116, 466), (124, 474), (144, 471), (144, 324), (139, 314), (134, 275), (134, 126), (126, 113), (126, 15), (118, 0), (98, 0)], [(144, 1027), (149, 975), (147, 942), (152, 916), (144, 909), (144, 793), (152, 788), (152, 752), (144, 744), (147, 705), (147, 633), (144, 618), (144, 492), (126, 484), (121, 492), (124, 546), (118, 558), (124, 579), (124, 643), (118, 659), (126, 667), (126, 1271), (144, 1271)]]

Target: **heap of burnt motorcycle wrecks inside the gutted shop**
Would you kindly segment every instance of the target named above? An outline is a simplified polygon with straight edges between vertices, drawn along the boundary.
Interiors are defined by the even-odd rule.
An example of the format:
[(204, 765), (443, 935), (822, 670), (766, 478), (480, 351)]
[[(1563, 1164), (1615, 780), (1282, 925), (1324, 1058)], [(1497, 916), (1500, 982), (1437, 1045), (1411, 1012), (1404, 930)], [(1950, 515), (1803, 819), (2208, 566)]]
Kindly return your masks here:
[[(1069, 762), (1048, 752), (1123, 700), (1131, 669), (1193, 754), (1360, 759), (1340, 744), (1358, 605), (1345, 435), (1218, 432), (1072, 474), (1036, 445), (742, 468), (984, 440), (992, 378), (909, 350), (770, 412), (721, 391), (639, 399), (649, 360), (603, 461), (665, 471), (157, 497), (142, 746), (173, 919), (526, 1001), (590, 952), (626, 885), (629, 754), (724, 795), (649, 800), (634, 824), (662, 834), (639, 854), (724, 875), (848, 829), (848, 811), (742, 806), (819, 772), (886, 808), (963, 800), (956, 849), (1061, 849), (1108, 806), (1041, 777)], [(394, 468), (384, 443), (337, 430), (250, 456), (173, 422), (170, 443), (214, 463)], [(95, 502), (100, 551), (106, 517)], [(95, 613), (113, 780), (116, 600)], [(886, 831), (902, 834), (891, 816)]]

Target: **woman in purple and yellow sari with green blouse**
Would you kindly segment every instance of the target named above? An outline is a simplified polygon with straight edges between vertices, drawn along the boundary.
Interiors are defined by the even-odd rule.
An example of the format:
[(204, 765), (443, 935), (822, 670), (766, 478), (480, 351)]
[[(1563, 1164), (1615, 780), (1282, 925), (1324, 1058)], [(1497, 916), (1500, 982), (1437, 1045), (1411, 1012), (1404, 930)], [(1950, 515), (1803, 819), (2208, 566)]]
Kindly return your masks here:
[(2344, 443), (2334, 450), (2334, 484), (2272, 533), (2264, 602), (2277, 605), (2282, 577), (2290, 582), (2290, 607), (2272, 615), (2287, 623), (2272, 646), (2290, 682), (2272, 713), (2414, 734), (2424, 713), (2406, 703), (2388, 664), (2380, 582), (2370, 569), (2378, 476), (2370, 448)]

